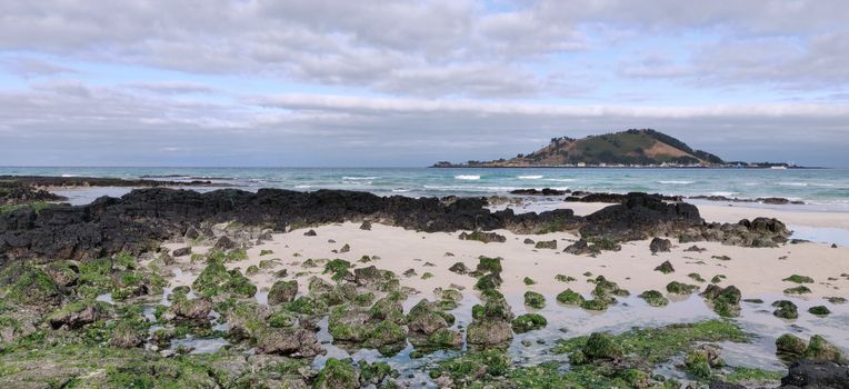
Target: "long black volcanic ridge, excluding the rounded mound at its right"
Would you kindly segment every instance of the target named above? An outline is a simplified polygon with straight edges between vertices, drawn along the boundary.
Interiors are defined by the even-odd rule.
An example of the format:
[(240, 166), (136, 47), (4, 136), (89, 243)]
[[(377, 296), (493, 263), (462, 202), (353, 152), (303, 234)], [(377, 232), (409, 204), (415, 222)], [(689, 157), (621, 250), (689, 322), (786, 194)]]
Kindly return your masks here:
[(286, 231), (289, 225), (346, 220), (380, 220), (393, 226), (433, 231), (508, 228), (536, 231), (551, 226), (577, 228), (583, 221), (571, 210), (515, 215), (491, 212), (486, 199), (378, 197), (367, 192), (319, 190), (298, 192), (260, 189), (256, 193), (222, 189), (206, 193), (151, 188), (121, 198), (103, 197), (87, 206), (53, 206), (39, 212), (18, 209), (0, 215), (0, 263), (13, 258), (87, 259), (141, 252), (159, 242), (203, 230), (202, 223), (237, 221)]

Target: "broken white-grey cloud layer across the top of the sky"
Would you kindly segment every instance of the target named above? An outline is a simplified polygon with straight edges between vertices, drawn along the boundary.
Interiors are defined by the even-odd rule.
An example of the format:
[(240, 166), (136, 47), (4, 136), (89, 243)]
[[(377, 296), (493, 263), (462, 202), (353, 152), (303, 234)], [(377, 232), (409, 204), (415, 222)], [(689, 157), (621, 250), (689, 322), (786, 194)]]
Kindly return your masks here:
[[(619, 74), (680, 79), (709, 71), (711, 79), (686, 86), (819, 88), (846, 83), (842, 7), (838, 0), (539, 0), (503, 9), (472, 0), (44, 0), (0, 4), (0, 50), (393, 94), (512, 98), (568, 96), (548, 86), (556, 72), (571, 79), (567, 90), (592, 91), (572, 59), (646, 37), (700, 32), (716, 43), (695, 44), (683, 58), (692, 63), (631, 63)], [(603, 66), (595, 71), (617, 73)], [(62, 72), (44, 63), (23, 68)], [(610, 78), (595, 78), (602, 77)]]

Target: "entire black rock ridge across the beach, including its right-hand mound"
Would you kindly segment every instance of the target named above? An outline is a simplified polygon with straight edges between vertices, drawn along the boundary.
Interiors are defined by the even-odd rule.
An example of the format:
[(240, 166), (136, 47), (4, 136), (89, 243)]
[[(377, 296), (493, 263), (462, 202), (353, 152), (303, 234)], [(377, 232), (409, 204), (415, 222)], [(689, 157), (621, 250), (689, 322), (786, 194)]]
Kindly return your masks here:
[(705, 225), (691, 205), (669, 203), (646, 193), (629, 193), (621, 205), (586, 218), (569, 209), (517, 215), (511, 209), (493, 212), (486, 206), (485, 198), (442, 201), (342, 190), (260, 189), (253, 193), (222, 189), (199, 193), (139, 189), (121, 198), (103, 197), (87, 206), (51, 206), (39, 211), (26, 207), (0, 215), (0, 263), (12, 259), (82, 260), (121, 251), (139, 253), (157, 249), (169, 239), (214, 236), (211, 226), (230, 221), (246, 228), (287, 231), (291, 226), (368, 219), (427, 232), (476, 231), (468, 236), (495, 229), (516, 233), (580, 229), (592, 242), (678, 233), (689, 240), (741, 246), (775, 245), (780, 241), (776, 237), (786, 239), (789, 233), (773, 219), (741, 221), (727, 228), (728, 232), (726, 225)]

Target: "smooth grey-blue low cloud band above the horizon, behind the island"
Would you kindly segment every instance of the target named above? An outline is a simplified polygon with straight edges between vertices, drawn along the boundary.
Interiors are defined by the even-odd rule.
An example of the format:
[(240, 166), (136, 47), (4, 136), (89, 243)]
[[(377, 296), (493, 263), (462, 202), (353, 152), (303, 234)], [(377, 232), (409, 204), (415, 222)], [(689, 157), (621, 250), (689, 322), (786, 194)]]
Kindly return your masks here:
[(425, 166), (628, 128), (656, 128), (728, 159), (840, 164), (849, 147), (849, 106), (835, 104), (557, 106), (331, 94), (210, 103), (79, 81), (3, 91), (0, 104), (0, 164)]

